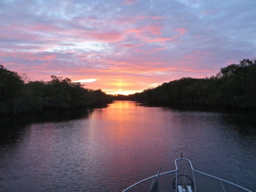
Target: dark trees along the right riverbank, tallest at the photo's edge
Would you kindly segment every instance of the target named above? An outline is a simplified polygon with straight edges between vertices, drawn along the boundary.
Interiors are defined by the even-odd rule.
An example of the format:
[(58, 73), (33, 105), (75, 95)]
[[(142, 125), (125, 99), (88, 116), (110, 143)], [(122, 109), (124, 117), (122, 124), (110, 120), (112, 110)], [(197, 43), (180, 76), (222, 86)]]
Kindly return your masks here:
[(256, 59), (221, 68), (210, 78), (181, 78), (114, 100), (200, 104), (208, 106), (256, 109)]

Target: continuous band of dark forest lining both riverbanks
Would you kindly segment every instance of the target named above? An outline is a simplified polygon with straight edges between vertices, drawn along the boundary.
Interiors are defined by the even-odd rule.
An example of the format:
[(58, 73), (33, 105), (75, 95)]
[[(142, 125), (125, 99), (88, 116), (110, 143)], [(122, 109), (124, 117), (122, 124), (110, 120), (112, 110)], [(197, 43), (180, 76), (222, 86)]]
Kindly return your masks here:
[(2, 65), (0, 79), (0, 115), (82, 108), (112, 100), (256, 109), (256, 59), (228, 65), (210, 78), (181, 78), (128, 96), (107, 95), (56, 76), (48, 82), (29, 81), (26, 74)]

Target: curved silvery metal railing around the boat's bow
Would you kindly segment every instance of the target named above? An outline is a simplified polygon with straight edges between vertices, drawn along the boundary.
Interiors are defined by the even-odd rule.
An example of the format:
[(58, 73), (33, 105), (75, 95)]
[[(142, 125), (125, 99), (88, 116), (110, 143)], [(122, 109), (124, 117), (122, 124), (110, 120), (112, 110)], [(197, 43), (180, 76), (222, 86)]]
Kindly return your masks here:
[(151, 176), (151, 177), (148, 177), (148, 178), (146, 178), (146, 179), (144, 179), (144, 180), (141, 180), (141, 181), (139, 181), (139, 182), (137, 182), (137, 183), (131, 185), (130, 187), (128, 187), (128, 188), (126, 188), (125, 190), (123, 190), (123, 192), (126, 192), (126, 191), (130, 190), (131, 188), (133, 188), (134, 186), (136, 186), (136, 185), (138, 185), (138, 184), (141, 184), (141, 183), (143, 183), (143, 182), (145, 182), (145, 181), (147, 181), (147, 180), (150, 180), (150, 179), (152, 179), (152, 178), (155, 178), (155, 177), (160, 176), (160, 175), (170, 174), (170, 173), (173, 173), (173, 172), (176, 172), (176, 192), (177, 192), (177, 172), (178, 172), (177, 161), (179, 161), (179, 160), (186, 160), (186, 161), (188, 161), (188, 162), (190, 163), (190, 166), (191, 166), (191, 169), (192, 169), (192, 175), (193, 175), (193, 181), (194, 181), (195, 192), (197, 192), (197, 191), (196, 191), (196, 182), (195, 182), (194, 172), (199, 173), (199, 174), (202, 174), (202, 175), (205, 175), (205, 176), (208, 176), (208, 177), (211, 177), (211, 178), (214, 178), (214, 179), (216, 179), (216, 180), (219, 180), (219, 182), (220, 182), (220, 184), (221, 184), (222, 189), (223, 189), (224, 192), (226, 192), (226, 191), (225, 191), (225, 189), (224, 189), (224, 186), (222, 185), (222, 182), (226, 182), (226, 183), (228, 183), (228, 184), (230, 184), (230, 185), (236, 186), (236, 187), (238, 187), (238, 188), (240, 188), (240, 189), (242, 189), (242, 190), (244, 190), (244, 191), (252, 192), (252, 191), (250, 191), (250, 190), (248, 190), (248, 189), (246, 189), (246, 188), (244, 188), (244, 187), (242, 187), (242, 186), (239, 186), (239, 185), (237, 185), (237, 184), (234, 184), (234, 183), (232, 183), (232, 182), (229, 182), (229, 181), (226, 181), (226, 180), (224, 180), (224, 179), (221, 179), (221, 178), (212, 176), (212, 175), (210, 175), (210, 174), (206, 174), (206, 173), (203, 173), (203, 172), (194, 170), (191, 161), (188, 160), (188, 159), (186, 159), (186, 158), (178, 158), (178, 159), (175, 160), (175, 166), (176, 166), (176, 169), (175, 169), (175, 170), (168, 171), (168, 172), (164, 172), (164, 173), (161, 173), (161, 174), (158, 173), (158, 174), (156, 174), (156, 175), (153, 175), (153, 176)]

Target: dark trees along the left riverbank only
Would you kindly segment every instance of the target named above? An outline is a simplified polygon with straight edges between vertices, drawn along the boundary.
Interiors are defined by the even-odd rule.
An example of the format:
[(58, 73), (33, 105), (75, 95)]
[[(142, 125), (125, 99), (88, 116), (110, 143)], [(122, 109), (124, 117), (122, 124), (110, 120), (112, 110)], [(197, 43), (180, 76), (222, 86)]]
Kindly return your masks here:
[(51, 76), (52, 80), (28, 81), (0, 65), (0, 115), (41, 112), (44, 109), (64, 110), (111, 102), (102, 90), (90, 90), (70, 79)]

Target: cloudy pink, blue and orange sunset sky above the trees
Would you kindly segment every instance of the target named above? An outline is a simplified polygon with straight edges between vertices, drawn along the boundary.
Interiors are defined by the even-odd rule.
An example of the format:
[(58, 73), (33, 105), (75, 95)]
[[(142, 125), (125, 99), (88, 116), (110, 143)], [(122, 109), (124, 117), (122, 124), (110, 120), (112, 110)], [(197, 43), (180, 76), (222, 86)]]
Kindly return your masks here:
[(0, 64), (108, 94), (256, 56), (256, 0), (0, 0)]

